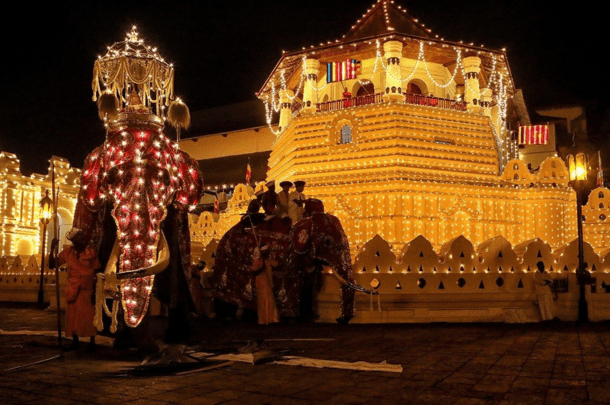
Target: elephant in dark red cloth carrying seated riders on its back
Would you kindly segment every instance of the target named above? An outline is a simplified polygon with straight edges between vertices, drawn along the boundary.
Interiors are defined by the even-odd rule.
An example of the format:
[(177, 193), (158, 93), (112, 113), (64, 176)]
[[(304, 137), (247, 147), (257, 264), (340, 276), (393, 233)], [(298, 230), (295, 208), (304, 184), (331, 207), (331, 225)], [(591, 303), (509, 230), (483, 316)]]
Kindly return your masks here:
[[(220, 240), (213, 274), (210, 278), (212, 296), (240, 308), (256, 308), (253, 288), (253, 254), (257, 246), (267, 246), (269, 258), (278, 265), (273, 268), (273, 290), (280, 316), (300, 315), (304, 280), (312, 269), (322, 265), (332, 268), (341, 282), (341, 317), (348, 322), (355, 314), (355, 286), (347, 236), (339, 219), (324, 212), (315, 212), (298, 221), (292, 228), (280, 219), (253, 221), (251, 215), (232, 227)], [(315, 275), (314, 275), (315, 276)]]

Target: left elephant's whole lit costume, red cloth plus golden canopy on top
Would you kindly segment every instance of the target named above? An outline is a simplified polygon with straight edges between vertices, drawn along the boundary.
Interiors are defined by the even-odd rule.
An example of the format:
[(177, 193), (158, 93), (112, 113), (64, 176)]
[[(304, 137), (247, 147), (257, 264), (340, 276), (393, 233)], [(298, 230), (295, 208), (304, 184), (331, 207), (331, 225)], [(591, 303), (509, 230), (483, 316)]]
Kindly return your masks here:
[[(199, 202), (203, 180), (197, 162), (163, 133), (165, 118), (178, 136), (190, 123), (186, 106), (170, 101), (173, 68), (134, 28), (98, 59), (93, 89), (106, 141), (85, 160), (74, 224), (97, 247), (114, 240), (105, 274), (98, 276), (96, 326), (102, 328), (104, 308), (116, 330), (119, 301), (125, 324), (138, 326), (153, 286), (170, 309), (199, 309), (202, 287), (191, 271), (188, 212)], [(112, 310), (104, 297), (114, 298)]]

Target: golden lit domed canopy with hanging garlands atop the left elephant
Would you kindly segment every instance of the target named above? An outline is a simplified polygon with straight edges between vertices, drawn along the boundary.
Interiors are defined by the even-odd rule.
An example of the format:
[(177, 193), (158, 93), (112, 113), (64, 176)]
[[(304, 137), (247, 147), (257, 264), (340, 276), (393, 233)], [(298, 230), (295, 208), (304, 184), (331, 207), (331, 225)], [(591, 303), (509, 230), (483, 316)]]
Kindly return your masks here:
[[(157, 48), (144, 43), (134, 26), (124, 41), (109, 46), (105, 55), (98, 56), (92, 88), (93, 101), (102, 95), (114, 96), (117, 108), (123, 112), (130, 104), (133, 107), (130, 101), (135, 94), (140, 99), (138, 113), (152, 113), (164, 119), (166, 107), (174, 98), (174, 67), (159, 55)], [(114, 114), (104, 116), (112, 119)], [(118, 119), (122, 118), (123, 114), (119, 114)]]

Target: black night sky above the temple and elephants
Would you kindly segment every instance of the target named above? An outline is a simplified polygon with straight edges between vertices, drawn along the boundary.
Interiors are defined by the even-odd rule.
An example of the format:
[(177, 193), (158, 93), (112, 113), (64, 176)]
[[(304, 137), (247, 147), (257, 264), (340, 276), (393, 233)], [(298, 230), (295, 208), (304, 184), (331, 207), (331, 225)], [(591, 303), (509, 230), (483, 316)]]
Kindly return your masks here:
[[(589, 2), (396, 1), (445, 39), (506, 47), (530, 109), (607, 104), (608, 23), (599, 9), (575, 9)], [(195, 111), (253, 99), (282, 50), (340, 38), (373, 2), (16, 2), (3, 13), (0, 150), (27, 175), (46, 173), (52, 155), (81, 167), (104, 139), (93, 63), (134, 24), (174, 63), (176, 94)]]

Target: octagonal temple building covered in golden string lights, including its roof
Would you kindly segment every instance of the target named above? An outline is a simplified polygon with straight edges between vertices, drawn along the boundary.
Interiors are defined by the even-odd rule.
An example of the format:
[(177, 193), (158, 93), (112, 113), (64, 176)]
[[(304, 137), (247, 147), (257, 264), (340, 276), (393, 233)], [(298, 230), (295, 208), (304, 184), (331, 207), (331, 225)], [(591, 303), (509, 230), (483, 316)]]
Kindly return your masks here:
[(555, 153), (536, 174), (515, 159), (518, 93), (503, 50), (445, 41), (378, 1), (342, 39), (284, 53), (258, 93), (268, 122), (279, 114), (267, 178), (305, 180), (354, 254), (375, 235), (394, 253), (419, 235), (436, 250), (459, 235), (557, 249), (577, 236), (575, 193)]

